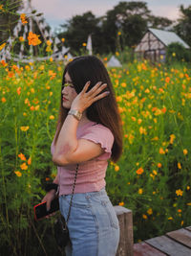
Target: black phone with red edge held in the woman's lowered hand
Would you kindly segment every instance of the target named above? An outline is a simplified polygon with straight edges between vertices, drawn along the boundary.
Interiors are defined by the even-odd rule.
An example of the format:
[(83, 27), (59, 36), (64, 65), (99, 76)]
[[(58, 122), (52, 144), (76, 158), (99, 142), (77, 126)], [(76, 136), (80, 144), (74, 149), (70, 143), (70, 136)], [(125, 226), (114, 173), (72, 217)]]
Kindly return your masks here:
[(51, 209), (49, 211), (47, 211), (47, 202), (46, 201), (38, 203), (33, 206), (34, 219), (36, 221), (39, 221), (58, 210), (59, 210), (59, 199), (58, 198), (53, 199), (53, 201), (51, 202)]

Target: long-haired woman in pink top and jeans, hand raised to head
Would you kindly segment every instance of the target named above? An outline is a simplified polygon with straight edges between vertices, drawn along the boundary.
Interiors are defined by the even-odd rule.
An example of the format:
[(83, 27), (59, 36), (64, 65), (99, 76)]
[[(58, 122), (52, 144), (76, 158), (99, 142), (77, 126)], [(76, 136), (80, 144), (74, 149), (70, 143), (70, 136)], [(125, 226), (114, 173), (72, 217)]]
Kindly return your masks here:
[(79, 164), (68, 228), (73, 256), (115, 256), (119, 226), (105, 192), (108, 159), (117, 161), (122, 131), (112, 82), (96, 57), (78, 57), (65, 67), (61, 105), (52, 144), (58, 173), (43, 201), (50, 208), (59, 185), (59, 204), (65, 220)]

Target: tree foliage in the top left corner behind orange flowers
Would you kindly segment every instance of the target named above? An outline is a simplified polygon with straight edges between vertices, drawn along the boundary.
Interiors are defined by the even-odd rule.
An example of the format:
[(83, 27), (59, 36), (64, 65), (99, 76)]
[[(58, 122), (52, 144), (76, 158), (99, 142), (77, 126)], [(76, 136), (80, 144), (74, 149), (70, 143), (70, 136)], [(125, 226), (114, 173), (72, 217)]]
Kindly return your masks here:
[(0, 0), (0, 43), (7, 40), (19, 16), (16, 11), (22, 6), (21, 0)]

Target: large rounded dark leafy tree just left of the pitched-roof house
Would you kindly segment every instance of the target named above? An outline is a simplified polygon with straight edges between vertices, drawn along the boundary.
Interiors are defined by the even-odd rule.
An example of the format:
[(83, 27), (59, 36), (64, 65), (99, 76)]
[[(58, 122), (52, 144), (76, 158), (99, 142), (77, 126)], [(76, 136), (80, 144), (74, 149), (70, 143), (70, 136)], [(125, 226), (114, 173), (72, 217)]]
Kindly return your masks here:
[(144, 2), (119, 2), (114, 10), (106, 13), (103, 22), (105, 49), (107, 52), (117, 50), (117, 33), (120, 32), (120, 47), (133, 46), (146, 32), (150, 11)]

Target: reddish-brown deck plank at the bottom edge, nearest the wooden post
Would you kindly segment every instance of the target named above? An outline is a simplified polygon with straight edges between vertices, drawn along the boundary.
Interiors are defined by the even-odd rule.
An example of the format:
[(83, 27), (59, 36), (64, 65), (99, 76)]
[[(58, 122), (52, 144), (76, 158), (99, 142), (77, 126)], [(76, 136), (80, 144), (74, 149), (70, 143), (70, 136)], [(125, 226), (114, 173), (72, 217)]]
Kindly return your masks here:
[(159, 251), (149, 244), (144, 242), (134, 244), (134, 256), (165, 256), (166, 254)]

